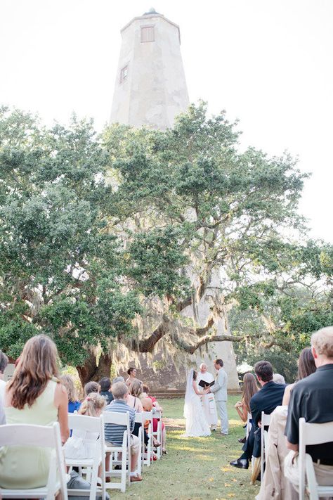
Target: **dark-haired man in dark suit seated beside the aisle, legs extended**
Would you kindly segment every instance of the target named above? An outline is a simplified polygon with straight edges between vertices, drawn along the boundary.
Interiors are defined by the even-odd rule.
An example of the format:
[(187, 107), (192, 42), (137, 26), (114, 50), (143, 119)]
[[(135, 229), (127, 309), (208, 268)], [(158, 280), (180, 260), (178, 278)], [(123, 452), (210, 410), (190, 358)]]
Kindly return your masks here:
[(270, 415), (276, 406), (282, 403), (285, 384), (273, 382), (273, 367), (269, 361), (258, 361), (254, 365), (254, 373), (261, 385), (261, 390), (252, 396), (250, 400), (250, 411), (252, 414), (252, 428), (249, 437), (244, 443), (244, 453), (239, 459), (230, 462), (230, 466), (247, 469), (249, 460), (259, 458), (261, 454), (261, 412)]

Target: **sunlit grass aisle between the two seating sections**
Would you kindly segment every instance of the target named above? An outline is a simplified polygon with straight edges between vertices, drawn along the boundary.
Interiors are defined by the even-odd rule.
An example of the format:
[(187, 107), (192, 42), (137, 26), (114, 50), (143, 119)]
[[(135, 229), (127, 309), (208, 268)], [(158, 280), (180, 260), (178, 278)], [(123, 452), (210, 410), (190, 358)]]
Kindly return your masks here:
[(166, 423), (168, 454), (145, 468), (143, 482), (110, 491), (111, 499), (135, 497), (139, 500), (254, 500), (259, 483), (249, 484), (250, 469), (229, 465), (240, 456), (238, 437), (244, 429), (234, 409), (239, 396), (228, 400), (229, 435), (213, 432), (210, 437), (181, 437), (185, 429), (183, 399), (161, 399)]

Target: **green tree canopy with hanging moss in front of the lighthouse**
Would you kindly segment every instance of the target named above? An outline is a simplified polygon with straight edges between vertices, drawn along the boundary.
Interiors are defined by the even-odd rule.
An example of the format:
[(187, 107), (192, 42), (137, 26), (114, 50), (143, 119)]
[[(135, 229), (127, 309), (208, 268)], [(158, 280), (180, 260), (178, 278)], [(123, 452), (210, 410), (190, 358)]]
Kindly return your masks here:
[[(202, 103), (165, 132), (112, 124), (102, 136), (75, 116), (46, 128), (1, 108), (1, 348), (17, 357), (44, 331), (84, 380), (119, 345), (192, 353), (228, 340), (214, 325), (232, 309), (264, 320), (266, 343), (332, 319), (332, 248), (306, 240), (297, 212), (306, 174), (287, 153), (241, 152), (238, 137)], [(214, 274), (202, 327), (182, 312)]]

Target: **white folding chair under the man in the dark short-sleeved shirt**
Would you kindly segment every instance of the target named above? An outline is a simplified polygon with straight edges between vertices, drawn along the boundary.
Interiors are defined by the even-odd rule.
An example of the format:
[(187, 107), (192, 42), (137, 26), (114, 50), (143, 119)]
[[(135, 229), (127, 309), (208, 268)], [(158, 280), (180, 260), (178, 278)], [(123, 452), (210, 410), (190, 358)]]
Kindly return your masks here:
[(320, 496), (333, 496), (333, 485), (318, 485), (312, 458), (306, 453), (308, 445), (331, 441), (333, 441), (333, 422), (308, 423), (305, 418), (299, 419), (299, 500), (305, 498), (306, 480), (310, 500), (318, 500)]

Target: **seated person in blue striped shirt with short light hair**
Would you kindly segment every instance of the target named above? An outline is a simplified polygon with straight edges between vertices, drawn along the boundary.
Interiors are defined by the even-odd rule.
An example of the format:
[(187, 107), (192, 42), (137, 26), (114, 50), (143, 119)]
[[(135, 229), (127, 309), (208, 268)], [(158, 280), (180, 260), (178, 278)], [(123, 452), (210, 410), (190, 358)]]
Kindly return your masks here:
[[(129, 389), (124, 382), (112, 383), (112, 395), (114, 400), (111, 404), (108, 404), (105, 411), (115, 411), (116, 413), (126, 414), (129, 412), (129, 425), (130, 430), (133, 432), (136, 411), (127, 404), (127, 395), (129, 394)], [(105, 444), (107, 446), (122, 446), (122, 440), (124, 436), (124, 431), (126, 427), (124, 425), (117, 425), (113, 423), (105, 424)], [(131, 434), (131, 481), (142, 481), (141, 475), (136, 474), (136, 468), (138, 466), (138, 452), (139, 452), (140, 442), (138, 437)], [(110, 456), (107, 457), (105, 461), (107, 470), (110, 469)]]

